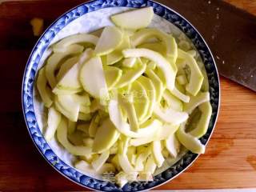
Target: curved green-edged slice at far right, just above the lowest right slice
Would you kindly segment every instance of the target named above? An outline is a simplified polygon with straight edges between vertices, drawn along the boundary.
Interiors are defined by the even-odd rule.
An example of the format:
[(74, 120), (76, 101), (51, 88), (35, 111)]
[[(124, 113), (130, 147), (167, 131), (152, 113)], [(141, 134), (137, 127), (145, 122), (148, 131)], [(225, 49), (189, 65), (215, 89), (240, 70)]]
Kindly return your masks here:
[(201, 138), (207, 132), (212, 114), (212, 106), (210, 105), (210, 102), (204, 102), (198, 106), (198, 108), (201, 110), (202, 114), (196, 128), (191, 130), (190, 134), (196, 138)]

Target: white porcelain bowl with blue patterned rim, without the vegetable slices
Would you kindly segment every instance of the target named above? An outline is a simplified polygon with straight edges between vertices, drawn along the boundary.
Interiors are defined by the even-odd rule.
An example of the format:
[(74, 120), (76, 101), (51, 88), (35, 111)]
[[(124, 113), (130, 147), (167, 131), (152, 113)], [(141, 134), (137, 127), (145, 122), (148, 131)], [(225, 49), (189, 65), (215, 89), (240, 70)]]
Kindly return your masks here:
[[(185, 34), (183, 37), (190, 41), (190, 45), (194, 46), (194, 49), (198, 50), (198, 54), (201, 56), (198, 58), (198, 63), (201, 65), (200, 67), (202, 70), (206, 71), (208, 76), (210, 102), (213, 106), (213, 115), (210, 120), (209, 129), (207, 134), (201, 138), (202, 143), (206, 143), (214, 128), (219, 102), (218, 74), (210, 50), (208, 50), (205, 42), (198, 32), (194, 30), (193, 26), (190, 26), (190, 23), (186, 22), (180, 15), (158, 3), (150, 1), (145, 2), (147, 3), (147, 6), (154, 6), (155, 14), (150, 27), (174, 34), (174, 37), (177, 38), (177, 40), (182, 34)], [(95, 5), (98, 7), (95, 8)], [(29, 62), (27, 63), (23, 81), (22, 100), (26, 124), (35, 145), (38, 146), (38, 150), (55, 169), (64, 174), (67, 178), (70, 178), (78, 184), (97, 190), (103, 190), (104, 187), (109, 187), (109, 190), (113, 190), (118, 189), (118, 187), (110, 182), (111, 179), (113, 179), (111, 178), (111, 175), (104, 175), (102, 177), (102, 175), (96, 173), (81, 173), (80, 171), (75, 170), (72, 166), (72, 162), (75, 161), (73, 155), (64, 150), (56, 139), (53, 139), (49, 143), (44, 140), (42, 133), (46, 127), (46, 113), (40, 99), (38, 99), (38, 92), (34, 88), (34, 78), (38, 69), (42, 67), (46, 58), (50, 55), (50, 46), (54, 44), (54, 42), (58, 42), (58, 40), (71, 34), (90, 33), (104, 26), (113, 25), (109, 19), (110, 15), (124, 10), (134, 9), (134, 7), (146, 6), (146, 4), (126, 4), (126, 6), (127, 7), (124, 7), (124, 5), (118, 6), (118, 4), (113, 6), (113, 4), (108, 5), (107, 2), (101, 4), (101, 1), (93, 1), (78, 6), (74, 10), (64, 14), (57, 22), (54, 22), (54, 24), (46, 30), (46, 33), (43, 34), (42, 38), (38, 41), (38, 44), (35, 46)], [(89, 11), (90, 7), (94, 7), (94, 9), (91, 8), (91, 11)], [(165, 11), (165, 14), (162, 15), (162, 11)], [(182, 153), (178, 155), (178, 158), (168, 158), (164, 165), (156, 170), (154, 174), (154, 182), (133, 182), (124, 186), (123, 190), (129, 190), (130, 187), (138, 190), (146, 190), (153, 186), (157, 186), (162, 182), (166, 182), (166, 180), (174, 178), (185, 170), (197, 157), (198, 154), (183, 150)]]

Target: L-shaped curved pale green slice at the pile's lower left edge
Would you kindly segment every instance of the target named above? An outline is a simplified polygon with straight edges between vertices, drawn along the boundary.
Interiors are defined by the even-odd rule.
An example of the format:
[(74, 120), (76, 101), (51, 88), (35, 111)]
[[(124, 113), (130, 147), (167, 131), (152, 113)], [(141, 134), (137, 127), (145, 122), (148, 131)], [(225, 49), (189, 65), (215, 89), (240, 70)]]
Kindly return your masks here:
[(57, 129), (57, 138), (58, 142), (65, 147), (65, 149), (74, 155), (86, 155), (91, 154), (91, 148), (87, 146), (74, 146), (67, 139), (67, 121), (66, 118), (62, 118), (58, 129)]

